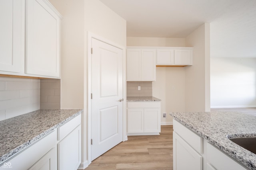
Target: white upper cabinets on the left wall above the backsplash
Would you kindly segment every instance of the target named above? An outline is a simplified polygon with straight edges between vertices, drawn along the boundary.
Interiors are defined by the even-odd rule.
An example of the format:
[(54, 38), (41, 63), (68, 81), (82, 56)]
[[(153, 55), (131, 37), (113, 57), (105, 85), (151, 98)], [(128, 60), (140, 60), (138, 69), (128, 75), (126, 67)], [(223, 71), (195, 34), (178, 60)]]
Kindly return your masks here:
[(60, 78), (62, 17), (50, 2), (1, 0), (0, 14), (0, 74)]

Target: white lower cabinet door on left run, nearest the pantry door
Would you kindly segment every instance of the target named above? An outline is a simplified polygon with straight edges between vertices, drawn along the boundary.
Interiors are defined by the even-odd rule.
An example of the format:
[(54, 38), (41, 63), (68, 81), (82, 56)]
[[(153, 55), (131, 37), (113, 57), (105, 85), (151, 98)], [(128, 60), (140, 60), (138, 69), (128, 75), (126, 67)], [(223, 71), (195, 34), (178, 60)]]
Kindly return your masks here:
[(58, 143), (58, 170), (76, 170), (81, 163), (81, 125)]

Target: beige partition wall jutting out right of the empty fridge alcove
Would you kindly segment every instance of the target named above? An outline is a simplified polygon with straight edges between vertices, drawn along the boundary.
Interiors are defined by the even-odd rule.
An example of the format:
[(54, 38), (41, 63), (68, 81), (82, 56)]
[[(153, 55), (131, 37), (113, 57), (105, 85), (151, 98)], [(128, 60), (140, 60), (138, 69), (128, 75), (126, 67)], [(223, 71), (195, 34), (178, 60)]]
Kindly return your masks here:
[(188, 37), (193, 65), (185, 67), (186, 111), (210, 111), (210, 24), (198, 27)]

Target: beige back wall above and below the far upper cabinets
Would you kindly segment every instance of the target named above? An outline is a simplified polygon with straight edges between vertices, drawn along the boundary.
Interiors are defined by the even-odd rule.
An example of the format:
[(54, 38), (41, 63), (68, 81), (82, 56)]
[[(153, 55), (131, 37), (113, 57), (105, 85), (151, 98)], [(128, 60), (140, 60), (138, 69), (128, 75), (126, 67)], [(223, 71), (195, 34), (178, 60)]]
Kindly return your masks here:
[[(127, 46), (186, 47), (185, 38), (127, 37)], [(173, 111), (185, 111), (185, 70), (176, 67), (157, 67), (152, 95), (161, 99), (161, 123), (171, 124)], [(174, 90), (173, 90), (174, 87)], [(162, 113), (167, 113), (163, 118)]]

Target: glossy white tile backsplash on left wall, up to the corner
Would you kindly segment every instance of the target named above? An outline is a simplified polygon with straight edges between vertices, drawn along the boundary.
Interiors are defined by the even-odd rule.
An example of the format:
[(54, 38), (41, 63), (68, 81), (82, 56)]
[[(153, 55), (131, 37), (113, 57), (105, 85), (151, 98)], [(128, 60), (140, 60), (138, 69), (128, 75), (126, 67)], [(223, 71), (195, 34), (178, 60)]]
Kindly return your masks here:
[(0, 121), (40, 109), (40, 80), (0, 77)]

